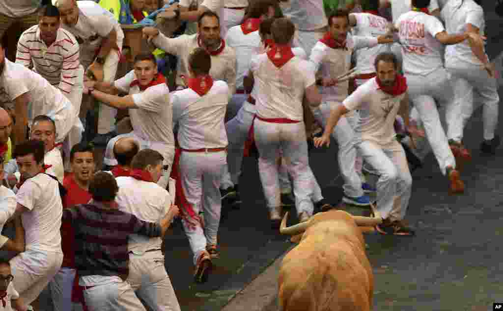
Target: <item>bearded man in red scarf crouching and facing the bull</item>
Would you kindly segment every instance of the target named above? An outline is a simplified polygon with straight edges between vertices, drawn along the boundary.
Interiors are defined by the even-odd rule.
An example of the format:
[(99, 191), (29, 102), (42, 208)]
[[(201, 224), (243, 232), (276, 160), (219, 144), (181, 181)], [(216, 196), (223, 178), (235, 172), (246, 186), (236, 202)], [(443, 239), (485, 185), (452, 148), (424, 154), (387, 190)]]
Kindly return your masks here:
[(392, 53), (379, 54), (375, 59), (377, 77), (360, 86), (342, 104), (331, 110), (323, 135), (314, 144), (329, 146), (330, 134), (343, 115), (354, 109), (366, 109), (357, 136), (357, 147), (364, 160), (380, 175), (377, 182), (376, 217), (383, 223), (376, 227), (382, 234), (413, 235), (404, 222), (410, 199), (412, 177), (400, 143), (395, 139), (393, 123), (396, 114), (405, 121), (410, 133), (420, 134), (409, 126), (406, 79), (397, 73), (398, 61)]

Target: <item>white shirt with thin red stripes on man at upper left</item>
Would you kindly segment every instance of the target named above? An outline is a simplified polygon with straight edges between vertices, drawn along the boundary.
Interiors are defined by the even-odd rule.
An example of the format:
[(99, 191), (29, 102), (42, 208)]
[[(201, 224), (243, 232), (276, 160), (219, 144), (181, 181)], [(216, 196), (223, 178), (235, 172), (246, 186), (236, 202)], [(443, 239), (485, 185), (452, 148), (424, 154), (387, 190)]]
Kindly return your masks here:
[(47, 47), (40, 39), (38, 25), (35, 25), (19, 38), (16, 63), (33, 67), (63, 94), (69, 94), (77, 77), (75, 70), (80, 66), (77, 40), (71, 33), (59, 28), (56, 41)]

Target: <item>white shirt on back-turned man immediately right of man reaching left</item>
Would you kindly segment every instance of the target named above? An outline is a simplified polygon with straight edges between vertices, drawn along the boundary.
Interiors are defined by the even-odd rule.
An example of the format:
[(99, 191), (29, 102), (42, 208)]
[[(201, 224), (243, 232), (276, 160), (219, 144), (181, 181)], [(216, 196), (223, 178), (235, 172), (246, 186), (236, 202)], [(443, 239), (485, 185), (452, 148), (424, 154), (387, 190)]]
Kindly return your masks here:
[(220, 148), (227, 146), (225, 110), (228, 103), (228, 86), (224, 81), (213, 81), (204, 96), (191, 88), (171, 94), (178, 142), (184, 149)]

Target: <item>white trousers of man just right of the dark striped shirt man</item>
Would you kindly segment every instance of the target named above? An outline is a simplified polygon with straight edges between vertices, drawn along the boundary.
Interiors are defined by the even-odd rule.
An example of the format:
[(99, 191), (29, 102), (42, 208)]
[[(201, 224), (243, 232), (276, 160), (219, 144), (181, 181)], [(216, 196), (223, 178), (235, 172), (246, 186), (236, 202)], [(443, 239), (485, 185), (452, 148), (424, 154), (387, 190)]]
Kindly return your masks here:
[(180, 311), (161, 251), (129, 254), (128, 283), (152, 311)]

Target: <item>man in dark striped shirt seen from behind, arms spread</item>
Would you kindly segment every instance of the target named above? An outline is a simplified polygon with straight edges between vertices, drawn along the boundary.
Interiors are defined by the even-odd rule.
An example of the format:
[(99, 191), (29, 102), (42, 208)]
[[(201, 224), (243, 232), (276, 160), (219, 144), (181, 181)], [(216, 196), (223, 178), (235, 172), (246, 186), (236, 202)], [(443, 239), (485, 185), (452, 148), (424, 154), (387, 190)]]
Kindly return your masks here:
[(119, 210), (115, 201), (118, 191), (112, 175), (98, 172), (89, 185), (93, 200), (64, 209), (62, 219), (75, 230), (75, 266), (89, 308), (144, 311), (126, 281), (130, 272), (128, 240), (133, 234), (163, 238), (178, 208), (171, 206), (157, 222), (146, 222)]

